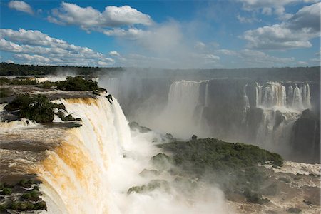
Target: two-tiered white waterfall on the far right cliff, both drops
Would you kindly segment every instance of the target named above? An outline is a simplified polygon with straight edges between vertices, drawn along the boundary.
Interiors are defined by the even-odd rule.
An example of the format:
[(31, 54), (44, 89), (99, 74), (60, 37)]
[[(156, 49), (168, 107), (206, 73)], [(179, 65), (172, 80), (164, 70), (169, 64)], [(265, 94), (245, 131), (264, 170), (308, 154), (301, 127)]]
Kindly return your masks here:
[[(273, 148), (290, 141), (292, 126), (305, 108), (311, 108), (310, 86), (303, 83), (297, 86), (290, 83), (267, 82), (263, 86), (256, 83), (255, 105), (263, 109), (261, 123), (256, 133), (256, 142), (265, 143), (266, 148)], [(285, 147), (285, 146), (284, 146)]]

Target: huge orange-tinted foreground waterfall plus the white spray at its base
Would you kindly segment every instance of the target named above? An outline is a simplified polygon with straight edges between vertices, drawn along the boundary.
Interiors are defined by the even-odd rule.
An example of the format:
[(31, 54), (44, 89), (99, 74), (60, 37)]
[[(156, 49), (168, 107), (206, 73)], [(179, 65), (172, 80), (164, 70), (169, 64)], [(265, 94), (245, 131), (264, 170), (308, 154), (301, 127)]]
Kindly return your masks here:
[[(29, 135), (26, 143), (42, 139), (41, 136), (44, 145), (49, 139), (56, 142), (53, 148), (44, 151), (40, 162), (25, 154), (14, 159), (16, 163), (24, 163), (24, 170), (36, 173), (43, 182), (41, 192), (48, 213), (233, 212), (233, 208), (225, 205), (223, 192), (215, 186), (200, 183), (200, 188), (190, 194), (176, 186), (175, 176), (167, 172), (157, 177), (142, 176), (144, 169), (153, 169), (151, 156), (161, 152), (152, 142), (161, 143), (163, 138), (153, 131), (130, 131), (116, 98), (113, 103), (105, 96), (61, 98), (55, 102), (63, 103), (68, 113), (81, 118), (82, 126), (42, 128), (26, 121), (19, 126), (10, 123), (10, 127), (17, 128), (12, 132), (17, 137), (19, 133)], [(154, 179), (168, 180), (170, 190), (157, 188), (147, 193), (127, 193), (129, 188)]]

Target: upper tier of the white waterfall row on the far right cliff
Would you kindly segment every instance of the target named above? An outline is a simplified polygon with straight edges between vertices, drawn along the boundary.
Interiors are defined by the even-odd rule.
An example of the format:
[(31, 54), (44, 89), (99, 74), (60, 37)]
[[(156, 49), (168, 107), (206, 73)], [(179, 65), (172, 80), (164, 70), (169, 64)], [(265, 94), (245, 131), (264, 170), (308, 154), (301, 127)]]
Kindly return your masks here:
[(302, 111), (311, 108), (310, 86), (308, 83), (288, 84), (267, 82), (263, 86), (256, 83), (256, 106), (258, 108), (285, 107)]

